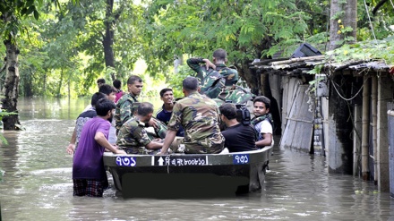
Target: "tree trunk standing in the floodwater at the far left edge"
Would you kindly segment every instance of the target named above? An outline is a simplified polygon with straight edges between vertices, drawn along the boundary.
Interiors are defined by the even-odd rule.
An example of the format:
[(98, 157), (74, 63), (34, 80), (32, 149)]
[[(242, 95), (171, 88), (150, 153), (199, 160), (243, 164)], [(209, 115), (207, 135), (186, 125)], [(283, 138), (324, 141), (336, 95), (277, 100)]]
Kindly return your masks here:
[[(19, 92), (19, 70), (18, 70), (18, 54), (19, 49), (12, 41), (11, 36), (8, 40), (4, 40), (5, 55), (6, 55), (6, 68), (5, 68), (5, 81), (2, 98), (3, 109), (7, 112), (18, 113), (16, 109), (18, 103)], [(3, 117), (4, 130), (20, 130), (19, 115), (9, 115)]]

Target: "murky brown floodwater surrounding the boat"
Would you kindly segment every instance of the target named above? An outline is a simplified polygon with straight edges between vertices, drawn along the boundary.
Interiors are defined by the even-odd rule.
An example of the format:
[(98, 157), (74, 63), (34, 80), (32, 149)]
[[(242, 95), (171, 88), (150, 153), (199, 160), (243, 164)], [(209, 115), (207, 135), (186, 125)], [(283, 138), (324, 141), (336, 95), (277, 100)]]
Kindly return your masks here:
[(0, 148), (2, 220), (394, 220), (388, 192), (350, 175), (328, 174), (324, 157), (278, 147), (263, 193), (124, 200), (112, 188), (103, 198), (73, 197), (72, 157), (65, 147), (88, 103), (20, 101), (26, 130), (4, 132), (10, 143)]

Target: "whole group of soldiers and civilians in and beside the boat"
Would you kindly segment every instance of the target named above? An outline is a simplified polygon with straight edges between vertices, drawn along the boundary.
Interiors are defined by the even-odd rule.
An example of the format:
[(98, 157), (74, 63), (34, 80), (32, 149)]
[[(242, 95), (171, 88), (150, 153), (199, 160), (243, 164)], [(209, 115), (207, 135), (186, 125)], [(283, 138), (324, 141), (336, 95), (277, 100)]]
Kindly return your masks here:
[(182, 99), (175, 101), (172, 89), (162, 89), (163, 106), (156, 116), (150, 102), (138, 101), (143, 87), (139, 76), (132, 75), (127, 80), (128, 93), (120, 89), (120, 81), (114, 81), (112, 87), (100, 79), (99, 92), (93, 94), (91, 106), (78, 116), (66, 149), (73, 154), (73, 194), (102, 196), (107, 187), (103, 165), (106, 149), (115, 154), (167, 155), (218, 154), (270, 146), (273, 139), (269, 98), (253, 99), (254, 117), (249, 124), (239, 122), (235, 104), (218, 106), (201, 94), (201, 82), (210, 70), (223, 76), (228, 89), (238, 81), (238, 73), (227, 68), (226, 62), (223, 49), (213, 53), (212, 62), (188, 59), (196, 77), (186, 77), (182, 82)]

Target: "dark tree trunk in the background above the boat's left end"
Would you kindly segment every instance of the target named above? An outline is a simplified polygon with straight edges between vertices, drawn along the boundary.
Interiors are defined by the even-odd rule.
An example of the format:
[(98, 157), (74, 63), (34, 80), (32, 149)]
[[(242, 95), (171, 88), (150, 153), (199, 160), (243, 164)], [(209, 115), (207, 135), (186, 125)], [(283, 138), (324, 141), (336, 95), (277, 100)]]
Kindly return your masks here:
[[(106, 34), (103, 38), (103, 47), (104, 47), (104, 58), (106, 60), (106, 67), (115, 68), (115, 58), (114, 58), (114, 49), (112, 48), (114, 45), (114, 0), (107, 0), (107, 10), (106, 10), (106, 21), (104, 22), (106, 25)], [(116, 80), (115, 72), (111, 72), (112, 81)]]

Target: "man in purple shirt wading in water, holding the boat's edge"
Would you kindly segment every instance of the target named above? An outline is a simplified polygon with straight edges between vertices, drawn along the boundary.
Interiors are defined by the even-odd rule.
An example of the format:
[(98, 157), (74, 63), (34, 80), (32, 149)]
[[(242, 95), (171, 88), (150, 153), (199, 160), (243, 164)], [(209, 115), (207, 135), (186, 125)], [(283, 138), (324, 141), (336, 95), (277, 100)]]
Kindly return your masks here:
[(83, 125), (79, 148), (73, 160), (73, 195), (102, 197), (107, 188), (104, 168), (105, 149), (115, 154), (125, 154), (108, 142), (108, 132), (114, 116), (115, 103), (101, 98), (96, 104), (97, 116)]

